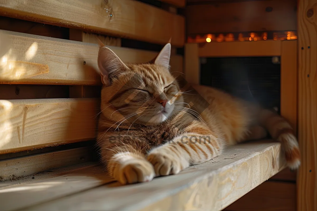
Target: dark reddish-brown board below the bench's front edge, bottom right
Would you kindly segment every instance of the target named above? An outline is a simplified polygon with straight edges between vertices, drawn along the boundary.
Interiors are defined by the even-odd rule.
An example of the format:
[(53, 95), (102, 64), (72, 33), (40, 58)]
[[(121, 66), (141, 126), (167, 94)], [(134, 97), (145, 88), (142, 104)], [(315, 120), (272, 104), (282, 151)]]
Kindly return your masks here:
[(296, 184), (266, 181), (224, 210), (296, 211)]

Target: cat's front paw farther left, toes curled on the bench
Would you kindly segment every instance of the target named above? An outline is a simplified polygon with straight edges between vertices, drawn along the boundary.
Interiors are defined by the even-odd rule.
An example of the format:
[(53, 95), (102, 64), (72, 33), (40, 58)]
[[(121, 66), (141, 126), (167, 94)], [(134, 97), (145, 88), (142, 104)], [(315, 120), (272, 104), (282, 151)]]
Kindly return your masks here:
[(151, 163), (145, 159), (135, 159), (126, 164), (120, 164), (113, 171), (113, 177), (121, 184), (148, 182), (155, 176)]

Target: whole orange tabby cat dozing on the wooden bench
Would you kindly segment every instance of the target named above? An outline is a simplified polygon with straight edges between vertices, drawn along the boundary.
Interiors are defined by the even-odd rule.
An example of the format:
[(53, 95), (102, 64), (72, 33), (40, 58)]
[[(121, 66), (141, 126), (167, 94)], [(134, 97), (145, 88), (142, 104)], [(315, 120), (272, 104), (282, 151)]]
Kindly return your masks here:
[(152, 62), (125, 64), (97, 41), (103, 83), (97, 143), (102, 163), (120, 183), (177, 174), (266, 131), (281, 142), (288, 167), (299, 167), (298, 143), (285, 119), (221, 90), (181, 87), (169, 72), (170, 43)]

